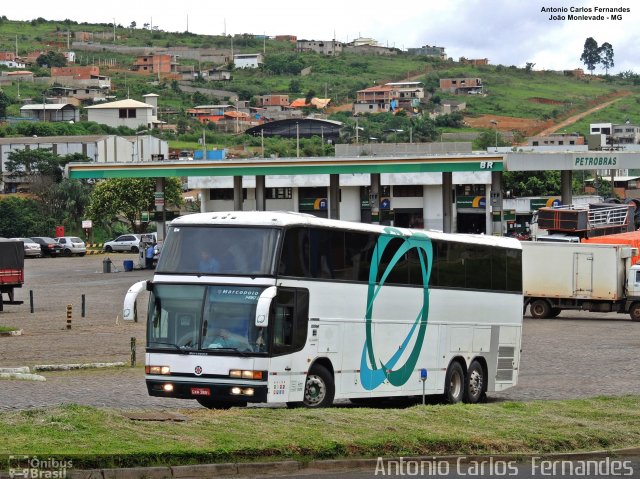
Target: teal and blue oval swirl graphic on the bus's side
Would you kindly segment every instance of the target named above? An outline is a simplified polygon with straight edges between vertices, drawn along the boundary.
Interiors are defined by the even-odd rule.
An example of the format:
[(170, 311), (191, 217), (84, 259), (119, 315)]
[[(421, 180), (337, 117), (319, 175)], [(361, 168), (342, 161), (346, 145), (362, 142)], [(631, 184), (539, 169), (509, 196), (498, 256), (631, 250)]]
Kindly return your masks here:
[[(378, 272), (380, 269), (380, 258), (382, 257), (385, 249), (389, 246), (392, 240), (403, 240), (402, 245), (396, 250), (395, 254), (389, 261), (384, 271), (380, 271), (379, 284), (376, 283), (378, 278)], [(420, 270), (422, 274), (422, 308), (418, 312), (416, 319), (411, 327), (411, 330), (407, 334), (407, 337), (402, 341), (398, 350), (383, 362), (379, 358), (376, 358), (373, 348), (373, 334), (372, 334), (372, 316), (373, 306), (376, 296), (382, 289), (389, 274), (393, 271), (398, 261), (402, 259), (405, 253), (416, 249), (418, 252), (418, 258), (420, 260)], [(425, 262), (426, 256), (426, 262)], [(420, 351), (424, 343), (424, 337), (427, 331), (427, 320), (429, 317), (429, 278), (431, 277), (431, 265), (433, 263), (433, 245), (428, 236), (422, 234), (413, 234), (412, 236), (404, 236), (395, 228), (385, 228), (384, 233), (380, 235), (376, 246), (373, 251), (373, 258), (371, 260), (371, 269), (369, 270), (369, 287), (367, 291), (367, 310), (365, 313), (365, 327), (366, 327), (366, 342), (362, 350), (362, 358), (360, 360), (360, 383), (362, 386), (371, 391), (372, 389), (380, 386), (385, 379), (394, 386), (402, 386), (411, 377)], [(398, 360), (405, 352), (407, 345), (415, 335), (415, 343), (413, 349), (406, 359), (405, 363), (397, 366)]]

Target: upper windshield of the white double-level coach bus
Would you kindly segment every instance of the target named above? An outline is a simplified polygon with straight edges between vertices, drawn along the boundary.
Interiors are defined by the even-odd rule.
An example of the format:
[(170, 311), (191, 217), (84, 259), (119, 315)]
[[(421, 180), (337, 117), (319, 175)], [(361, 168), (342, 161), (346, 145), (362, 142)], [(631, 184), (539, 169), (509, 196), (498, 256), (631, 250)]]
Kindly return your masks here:
[(275, 228), (173, 226), (167, 232), (156, 271), (272, 275), (278, 237)]

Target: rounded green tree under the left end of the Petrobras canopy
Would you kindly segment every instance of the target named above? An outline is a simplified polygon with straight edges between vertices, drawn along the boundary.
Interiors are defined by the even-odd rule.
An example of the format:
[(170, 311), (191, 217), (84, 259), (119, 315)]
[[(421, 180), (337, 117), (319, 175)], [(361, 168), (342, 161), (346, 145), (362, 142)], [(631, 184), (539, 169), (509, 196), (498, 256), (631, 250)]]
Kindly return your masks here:
[[(131, 231), (144, 233), (149, 222), (142, 221), (142, 213), (155, 210), (155, 189), (155, 178), (116, 178), (101, 181), (91, 193), (87, 215), (108, 229), (122, 218)], [(166, 206), (182, 204), (180, 179), (165, 179), (164, 201)]]

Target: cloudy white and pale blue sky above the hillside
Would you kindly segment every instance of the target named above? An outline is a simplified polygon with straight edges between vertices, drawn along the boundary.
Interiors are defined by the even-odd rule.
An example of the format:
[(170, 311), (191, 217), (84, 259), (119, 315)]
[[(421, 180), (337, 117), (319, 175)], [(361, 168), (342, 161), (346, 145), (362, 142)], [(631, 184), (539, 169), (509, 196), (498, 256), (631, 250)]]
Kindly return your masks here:
[[(622, 20), (549, 20), (543, 7), (623, 7)], [(489, 58), (492, 64), (564, 70), (583, 67), (580, 55), (587, 37), (613, 46), (612, 72), (640, 73), (640, 4), (631, 0), (30, 0), (3, 2), (12, 20), (70, 18), (78, 22), (138, 27), (152, 23), (164, 31), (219, 35), (254, 33), (296, 35), (298, 39), (351, 41), (358, 36), (406, 49), (445, 47), (454, 59)], [(599, 13), (586, 13), (599, 15)], [(0, 34), (2, 30), (0, 29)], [(596, 70), (598, 72), (599, 70)]]

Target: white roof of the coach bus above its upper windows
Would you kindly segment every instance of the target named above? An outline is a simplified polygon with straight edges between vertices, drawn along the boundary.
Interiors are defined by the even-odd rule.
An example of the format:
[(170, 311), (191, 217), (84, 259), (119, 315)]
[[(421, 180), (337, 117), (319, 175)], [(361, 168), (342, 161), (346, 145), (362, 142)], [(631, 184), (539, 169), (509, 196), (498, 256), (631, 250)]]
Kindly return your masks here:
[[(341, 221), (319, 218), (307, 213), (289, 211), (216, 211), (210, 213), (194, 213), (180, 216), (171, 221), (172, 226), (179, 225), (224, 225), (224, 226), (319, 226), (323, 228), (339, 228), (349, 231), (370, 233), (384, 233), (388, 226), (358, 223), (355, 221)], [(435, 230), (420, 230), (394, 227), (404, 236), (421, 233), (429, 238), (463, 243), (484, 244), (503, 248), (522, 249), (520, 241), (515, 238), (488, 236), (478, 234), (451, 234)]]

